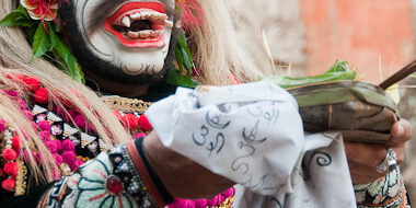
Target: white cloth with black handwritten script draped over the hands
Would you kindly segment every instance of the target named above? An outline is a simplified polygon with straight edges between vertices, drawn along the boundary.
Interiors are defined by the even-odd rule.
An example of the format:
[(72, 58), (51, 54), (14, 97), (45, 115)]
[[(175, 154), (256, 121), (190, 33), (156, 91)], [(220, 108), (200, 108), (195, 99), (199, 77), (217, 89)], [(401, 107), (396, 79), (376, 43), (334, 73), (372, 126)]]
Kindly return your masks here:
[(146, 115), (164, 146), (244, 186), (236, 207), (355, 206), (339, 135), (304, 136), (296, 100), (273, 83), (180, 88)]

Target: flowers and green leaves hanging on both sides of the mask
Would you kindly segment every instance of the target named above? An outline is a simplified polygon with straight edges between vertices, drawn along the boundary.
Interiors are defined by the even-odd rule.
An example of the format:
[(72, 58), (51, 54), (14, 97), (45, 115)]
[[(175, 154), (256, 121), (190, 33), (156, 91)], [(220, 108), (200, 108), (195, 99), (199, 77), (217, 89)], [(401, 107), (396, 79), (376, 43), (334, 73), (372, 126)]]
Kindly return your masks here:
[[(200, 5), (196, 0), (175, 0), (176, 11), (181, 14), (182, 31), (176, 37), (176, 65), (167, 73), (167, 82), (182, 86), (196, 86), (190, 79), (195, 66), (187, 46), (187, 36), (192, 25), (200, 25)], [(44, 57), (59, 69), (84, 83), (83, 72), (77, 59), (60, 38), (57, 12), (59, 5), (68, 0), (20, 0), (18, 9), (0, 21), (0, 26), (23, 26), (33, 46), (33, 58)], [(185, 70), (184, 70), (185, 69)]]

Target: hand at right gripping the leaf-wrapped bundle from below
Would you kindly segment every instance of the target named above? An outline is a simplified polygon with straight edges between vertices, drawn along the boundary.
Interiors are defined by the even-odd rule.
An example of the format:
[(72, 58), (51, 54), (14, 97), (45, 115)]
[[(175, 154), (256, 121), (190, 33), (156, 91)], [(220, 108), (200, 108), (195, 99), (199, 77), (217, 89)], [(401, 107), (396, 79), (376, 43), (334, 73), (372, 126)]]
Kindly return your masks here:
[(392, 148), (397, 154), (397, 163), (404, 160), (405, 142), (412, 138), (412, 126), (401, 119), (391, 128), (392, 138), (385, 145), (371, 145), (360, 142), (345, 142), (349, 171), (354, 184), (368, 184), (385, 174), (375, 171), (385, 159), (386, 149)]

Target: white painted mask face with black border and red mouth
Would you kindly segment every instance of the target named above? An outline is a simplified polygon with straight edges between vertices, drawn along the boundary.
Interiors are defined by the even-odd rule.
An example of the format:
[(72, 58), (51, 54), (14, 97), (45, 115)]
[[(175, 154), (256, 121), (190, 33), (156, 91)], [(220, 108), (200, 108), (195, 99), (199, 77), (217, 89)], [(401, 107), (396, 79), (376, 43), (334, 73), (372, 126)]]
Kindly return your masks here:
[(63, 27), (81, 65), (126, 81), (162, 72), (174, 7), (174, 0), (72, 0), (68, 11), (59, 12), (67, 20)]

